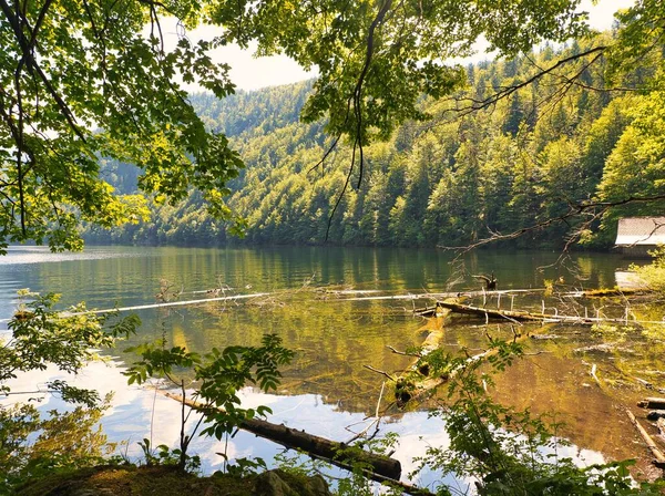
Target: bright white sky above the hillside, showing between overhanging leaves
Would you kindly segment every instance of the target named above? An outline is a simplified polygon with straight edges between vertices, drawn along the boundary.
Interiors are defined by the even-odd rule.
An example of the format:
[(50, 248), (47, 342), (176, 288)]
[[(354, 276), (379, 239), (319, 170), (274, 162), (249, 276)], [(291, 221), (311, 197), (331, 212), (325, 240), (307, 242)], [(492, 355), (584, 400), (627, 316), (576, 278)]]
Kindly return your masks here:
[[(596, 3), (596, 4), (594, 4)], [(624, 9), (634, 3), (634, 0), (582, 0), (581, 10), (589, 12), (589, 22), (592, 28), (606, 30), (612, 27), (614, 12)], [(187, 33), (191, 40), (209, 40), (215, 35), (216, 28), (202, 27)], [(175, 25), (166, 29), (175, 40)], [(168, 37), (168, 34), (167, 34)], [(214, 50), (211, 55), (215, 62), (224, 62), (231, 65), (231, 79), (239, 90), (258, 90), (265, 86), (277, 86), (280, 84), (295, 83), (316, 75), (315, 72), (307, 72), (295, 61), (286, 55), (273, 55), (264, 58), (253, 56), (254, 49), (242, 50), (237, 45), (229, 45)], [(463, 62), (477, 62), (491, 58), (482, 49), (477, 55), (464, 60)], [(190, 91), (196, 91), (195, 86), (185, 87)]]

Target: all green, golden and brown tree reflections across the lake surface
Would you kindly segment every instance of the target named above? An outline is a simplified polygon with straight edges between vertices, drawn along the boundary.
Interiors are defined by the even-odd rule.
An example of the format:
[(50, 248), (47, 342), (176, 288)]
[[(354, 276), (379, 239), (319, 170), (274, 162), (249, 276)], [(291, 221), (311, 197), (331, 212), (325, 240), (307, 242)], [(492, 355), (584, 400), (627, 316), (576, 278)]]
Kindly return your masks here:
[[(129, 252), (132, 250), (135, 249), (127, 249)], [(184, 286), (183, 299), (203, 297), (186, 292), (215, 288), (219, 280), (238, 292), (277, 291), (282, 304), (211, 302), (200, 307), (142, 311), (140, 317), (144, 324), (130, 344), (160, 338), (165, 331), (171, 345), (204, 353), (213, 347), (257, 345), (262, 335), (274, 332), (284, 339), (285, 345), (297, 352), (293, 364), (284, 370), (284, 393), (320, 394), (326, 403), (339, 405), (340, 410), (366, 413), (374, 413), (383, 378), (362, 365), (371, 364), (387, 372), (401, 371), (410, 365), (411, 359), (393, 354), (386, 347), (390, 344), (405, 350), (419, 345), (424, 339), (418, 333), (422, 321), (396, 311), (393, 307), (405, 306), (405, 302), (344, 302), (332, 297), (323, 301), (317, 299), (320, 294), (314, 291), (295, 291), (313, 273), (316, 273), (314, 285), (318, 286), (342, 285), (400, 293), (442, 290), (452, 270), (448, 265), (449, 255), (433, 250), (160, 248), (151, 255), (154, 256), (44, 264), (35, 269), (30, 276), (34, 280), (27, 280), (25, 286), (39, 289), (48, 281), (51, 287), (66, 290), (66, 301), (84, 299), (90, 307), (98, 308), (112, 307), (116, 300), (123, 306), (152, 303), (161, 278), (175, 282), (178, 288)], [(473, 273), (495, 270), (503, 288), (542, 287), (543, 279), (555, 280), (560, 272), (556, 269), (538, 272), (535, 268), (555, 261), (557, 256), (540, 251), (478, 251), (467, 261), (467, 270)], [(590, 278), (584, 282), (585, 287), (593, 287), (597, 281), (610, 281), (606, 286), (613, 286), (615, 257), (587, 254), (572, 257), (579, 262), (582, 276)], [(572, 279), (563, 273), (569, 283)], [(252, 285), (252, 288), (246, 289), (246, 285)], [(467, 279), (466, 285), (460, 285), (464, 286), (474, 287), (475, 283)], [(515, 307), (540, 309), (541, 298), (539, 293), (531, 300), (515, 299)], [(502, 306), (509, 304), (509, 301), (502, 300)], [(592, 306), (589, 307), (592, 310)], [(603, 310), (607, 316), (612, 311), (610, 308)], [(648, 316), (646, 310), (636, 311), (643, 312), (640, 317), (647, 320), (661, 320), (663, 313), (657, 308)], [(623, 316), (623, 307), (616, 310), (615, 316)], [(618, 447), (625, 453), (626, 446), (631, 445), (625, 437), (632, 433), (613, 433), (612, 428), (617, 432), (615, 426), (623, 418), (612, 405), (616, 397), (622, 401), (628, 397), (633, 402), (633, 396), (636, 399), (643, 392), (631, 389), (633, 386), (612, 384), (610, 391), (613, 397), (607, 399), (594, 390), (595, 385), (587, 376), (589, 366), (582, 363), (582, 359), (597, 363), (601, 376), (607, 376), (616, 365), (625, 375), (656, 383), (661, 376), (643, 376), (638, 372), (663, 370), (661, 356), (665, 350), (653, 341), (649, 345), (640, 344), (641, 338), (636, 334), (626, 338), (626, 347), (636, 350), (635, 354), (620, 353), (613, 361), (603, 355), (580, 356), (572, 350), (602, 339), (597, 335), (592, 338), (589, 330), (582, 332), (569, 332), (567, 338), (557, 340), (555, 344), (539, 341), (533, 351), (552, 353), (528, 356), (497, 378), (497, 395), (502, 402), (532, 406), (536, 412), (560, 411), (562, 420), (570, 425), (562, 432), (580, 445), (605, 453)], [(662, 337), (663, 330), (654, 328), (648, 332), (652, 338)], [(501, 330), (491, 328), (490, 333), (494, 338), (511, 335), (508, 327), (501, 327)], [(556, 333), (562, 332), (557, 330)], [(456, 320), (447, 327), (444, 341), (451, 353), (460, 352), (463, 347), (485, 348), (485, 327), (478, 321)], [(132, 360), (129, 355), (123, 358)], [(615, 379), (627, 381), (618, 372)], [(584, 386), (585, 382), (591, 388)], [(658, 385), (665, 386), (665, 380)], [(594, 406), (587, 414), (590, 405), (597, 407)], [(625, 453), (625, 456), (632, 455), (634, 453)]]

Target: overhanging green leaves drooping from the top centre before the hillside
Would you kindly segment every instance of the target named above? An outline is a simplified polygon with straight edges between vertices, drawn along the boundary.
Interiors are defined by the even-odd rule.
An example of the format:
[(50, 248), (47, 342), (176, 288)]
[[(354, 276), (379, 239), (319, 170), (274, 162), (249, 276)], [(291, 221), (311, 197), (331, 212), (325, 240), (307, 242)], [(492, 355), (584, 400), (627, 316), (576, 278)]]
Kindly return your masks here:
[(351, 143), (367, 145), (374, 137), (385, 140), (408, 118), (426, 117), (418, 105), (421, 94), (440, 97), (459, 87), (462, 68), (442, 61), (468, 55), (481, 34), (503, 54), (530, 50), (544, 37), (563, 41), (584, 32), (584, 14), (575, 13), (576, 4), (511, 1), (498, 10), (472, 1), (422, 8), (319, 0), (285, 9), (270, 2), (248, 8), (247, 1), (222, 1), (211, 18), (233, 23), (225, 41), (246, 45), (256, 39), (262, 54), (284, 52), (305, 68), (316, 66), (319, 76), (303, 118), (327, 116), (330, 134), (347, 134)]

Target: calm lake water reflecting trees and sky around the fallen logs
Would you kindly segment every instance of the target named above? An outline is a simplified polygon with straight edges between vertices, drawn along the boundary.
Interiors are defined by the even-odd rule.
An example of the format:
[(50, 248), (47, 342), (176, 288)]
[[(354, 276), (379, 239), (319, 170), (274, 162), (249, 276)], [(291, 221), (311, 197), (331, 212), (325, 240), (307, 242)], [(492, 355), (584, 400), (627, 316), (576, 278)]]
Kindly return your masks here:
[[(130, 344), (165, 335), (170, 343), (206, 352), (213, 347), (258, 344), (263, 334), (276, 333), (297, 352), (296, 358), (284, 370), (278, 394), (246, 390), (245, 404), (266, 404), (275, 412), (273, 421), (345, 441), (374, 415), (385, 381), (362, 365), (398, 373), (411, 359), (387, 347), (405, 350), (421, 344), (427, 335), (427, 322), (410, 313), (413, 304), (421, 306), (424, 300), (377, 297), (479, 289), (472, 275), (491, 272), (500, 289), (543, 288), (544, 280), (571, 288), (613, 287), (615, 270), (630, 264), (615, 255), (583, 254), (548, 267), (559, 255), (479, 251), (451, 264), (450, 254), (416, 249), (88, 247), (82, 254), (49, 254), (37, 247), (13, 247), (0, 257), (0, 329), (7, 329), (6, 319), (16, 310), (16, 293), (21, 288), (60, 292), (63, 309), (80, 301), (96, 309), (155, 303), (164, 281), (168, 281), (168, 292), (178, 293), (178, 300), (207, 298), (206, 290), (219, 287), (225, 290), (218, 296), (266, 292), (269, 294), (236, 302), (137, 310), (143, 326)], [(503, 304), (510, 304), (507, 301)], [(514, 304), (540, 309), (542, 304), (569, 303), (543, 303), (536, 294), (515, 299)], [(589, 311), (611, 311), (601, 310), (600, 304), (590, 302)], [(446, 328), (444, 342), (451, 352), (459, 352), (460, 347), (482, 349), (487, 331), (483, 322), (457, 319)], [(497, 335), (508, 332), (497, 326), (491, 331)], [(529, 343), (528, 355), (498, 378), (493, 394), (519, 407), (557, 412), (556, 420), (565, 423), (561, 434), (574, 443), (567, 454), (586, 463), (644, 457), (621, 407), (644, 395), (630, 384), (635, 366), (643, 373), (640, 376), (653, 379), (644, 374), (662, 370), (658, 356), (663, 350), (653, 341), (646, 344), (642, 333), (603, 337), (580, 328), (551, 332), (557, 339)], [(598, 342), (618, 340), (628, 340), (630, 345), (610, 352), (592, 349)], [(153, 444), (175, 444), (178, 407), (152, 391), (126, 386), (121, 372), (133, 356), (123, 353), (125, 347), (109, 354), (111, 363), (92, 364), (76, 381), (101, 392), (115, 392), (104, 428), (111, 440), (129, 442), (127, 453), (136, 456), (136, 442), (143, 437), (152, 435)], [(598, 373), (612, 376), (608, 388), (601, 389), (591, 379), (594, 363)], [(30, 373), (13, 389), (33, 390), (58, 375), (52, 370)], [(53, 397), (45, 397), (42, 404), (44, 409), (60, 405)], [(405, 474), (413, 467), (411, 457), (426, 448), (420, 436), (427, 436), (430, 444), (447, 442), (441, 421), (428, 420), (424, 411), (395, 414), (383, 422), (382, 430), (401, 434), (395, 456), (402, 462)], [(279, 451), (246, 433), (231, 440), (226, 448), (232, 457), (270, 458)], [(206, 469), (221, 465), (215, 453), (224, 450), (224, 443), (200, 440), (193, 450), (202, 455)], [(431, 482), (432, 476), (423, 477), (422, 484)]]

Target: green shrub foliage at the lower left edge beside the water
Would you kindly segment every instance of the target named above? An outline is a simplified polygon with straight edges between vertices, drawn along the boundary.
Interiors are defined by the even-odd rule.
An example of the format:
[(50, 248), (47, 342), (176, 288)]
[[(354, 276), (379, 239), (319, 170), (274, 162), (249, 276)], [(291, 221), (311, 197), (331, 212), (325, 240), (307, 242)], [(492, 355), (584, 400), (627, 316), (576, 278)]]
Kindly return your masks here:
[[(9, 321), (11, 338), (0, 343), (0, 393), (33, 394), (12, 391), (8, 381), (22, 372), (58, 366), (79, 372), (89, 361), (99, 359), (95, 350), (112, 347), (116, 340), (134, 333), (140, 320), (135, 316), (115, 319), (115, 314), (94, 314), (84, 304), (58, 312), (53, 306), (59, 294), (40, 296), (19, 291), (28, 301)], [(48, 382), (43, 393), (79, 404), (70, 412), (48, 412), (43, 418), (31, 404), (0, 407), (0, 493), (7, 494), (30, 477), (72, 471), (101, 463), (109, 454), (99, 422), (109, 407), (96, 391), (69, 385), (65, 381)]]

